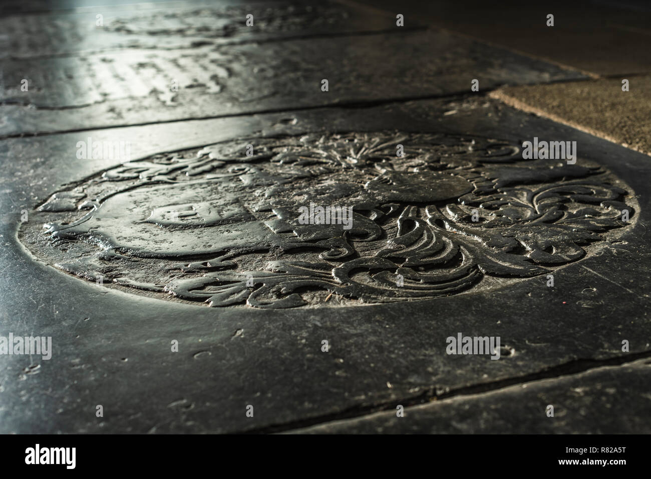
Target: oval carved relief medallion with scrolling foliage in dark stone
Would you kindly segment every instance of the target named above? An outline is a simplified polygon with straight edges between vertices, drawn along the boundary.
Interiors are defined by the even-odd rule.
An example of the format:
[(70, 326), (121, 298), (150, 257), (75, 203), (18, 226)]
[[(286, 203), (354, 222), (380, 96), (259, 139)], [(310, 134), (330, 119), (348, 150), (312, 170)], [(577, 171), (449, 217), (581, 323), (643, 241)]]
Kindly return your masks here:
[(109, 169), (53, 194), (20, 238), (61, 270), (160, 298), (352, 305), (550, 274), (623, 231), (632, 203), (603, 167), (523, 160), (506, 141), (306, 134)]

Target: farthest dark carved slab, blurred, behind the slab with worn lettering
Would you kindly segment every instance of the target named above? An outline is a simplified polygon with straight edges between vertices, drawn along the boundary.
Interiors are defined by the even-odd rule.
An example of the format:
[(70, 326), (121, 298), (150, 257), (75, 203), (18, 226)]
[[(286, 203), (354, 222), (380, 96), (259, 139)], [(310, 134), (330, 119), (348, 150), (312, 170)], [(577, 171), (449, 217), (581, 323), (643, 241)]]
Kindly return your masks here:
[[(7, 12), (0, 18), (6, 47), (0, 51), (0, 58), (43, 59), (99, 51), (174, 50), (369, 33), (395, 27), (395, 16), (331, 1), (310, 5), (292, 0), (184, 0), (166, 1), (164, 5), (140, 3), (83, 8), (55, 3), (44, 2), (40, 8), (34, 5), (31, 10), (36, 11), (31, 15)], [(54, 11), (38, 11), (48, 7)], [(249, 25), (247, 20), (251, 20)], [(414, 18), (404, 29), (417, 27)]]

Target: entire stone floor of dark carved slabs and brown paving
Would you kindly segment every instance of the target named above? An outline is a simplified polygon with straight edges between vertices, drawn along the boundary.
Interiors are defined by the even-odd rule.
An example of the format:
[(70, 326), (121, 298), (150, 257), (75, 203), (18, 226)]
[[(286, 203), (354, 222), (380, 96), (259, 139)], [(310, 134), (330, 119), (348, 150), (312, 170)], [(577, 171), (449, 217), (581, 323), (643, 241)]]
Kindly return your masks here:
[(647, 13), (427, 5), (0, 7), (0, 433), (651, 432)]

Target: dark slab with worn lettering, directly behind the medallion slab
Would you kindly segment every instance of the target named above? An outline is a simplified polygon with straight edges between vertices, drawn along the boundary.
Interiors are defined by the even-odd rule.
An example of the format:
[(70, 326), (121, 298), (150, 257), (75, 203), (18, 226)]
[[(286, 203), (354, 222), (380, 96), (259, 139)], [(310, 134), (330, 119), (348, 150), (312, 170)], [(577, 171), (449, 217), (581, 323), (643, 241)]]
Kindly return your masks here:
[[(228, 45), (215, 40), (226, 35), (219, 29), (207, 32), (208, 40), (192, 40), (184, 23), (170, 46), (145, 24), (138, 31), (151, 44), (134, 40), (133, 48), (12, 55), (0, 59), (0, 136), (426, 98), (465, 93), (477, 77), (480, 91), (584, 78), (445, 31), (394, 26), (387, 33), (395, 18), (369, 22), (381, 31), (360, 26), (351, 35), (320, 36), (316, 29), (315, 36), (293, 39), (279, 38), (271, 22), (274, 41)], [(237, 27), (231, 35), (239, 32)], [(118, 29), (115, 35), (132, 33)], [(23, 79), (28, 91), (21, 91)], [(322, 91), (324, 79), (328, 91)]]

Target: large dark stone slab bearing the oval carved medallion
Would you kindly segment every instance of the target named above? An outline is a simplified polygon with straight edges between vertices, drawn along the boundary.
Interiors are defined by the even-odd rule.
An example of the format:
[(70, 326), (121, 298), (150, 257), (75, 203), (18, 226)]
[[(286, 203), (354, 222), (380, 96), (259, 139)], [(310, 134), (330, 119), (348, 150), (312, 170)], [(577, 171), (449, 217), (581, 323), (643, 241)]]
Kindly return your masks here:
[[(372, 150), (368, 141), (383, 138), (381, 132), (390, 139), (387, 151), (376, 145), (380, 148), (375, 152), (363, 154), (363, 149)], [(93, 141), (130, 142), (130, 164), (122, 165), (115, 158), (78, 158), (77, 142), (88, 136)], [(536, 169), (536, 163), (510, 156), (522, 141), (534, 136), (577, 141), (575, 167), (580, 169), (550, 160), (543, 172)], [(260, 145), (257, 158), (242, 156), (245, 145), (240, 140), (251, 138)], [(400, 141), (409, 155), (405, 164), (389, 154), (397, 138), (404, 138)], [(351, 149), (352, 145), (360, 148)], [(534, 387), (532, 381), (541, 379), (548, 381), (540, 385), (541, 391), (564, 391), (559, 408), (564, 412), (562, 430), (582, 431), (587, 416), (580, 408), (587, 399), (568, 393), (567, 387), (584, 387), (594, 377), (605, 388), (616, 388), (616, 394), (622, 394), (616, 379), (599, 371), (590, 375), (590, 370), (627, 366), (651, 356), (648, 157), (485, 96), (466, 94), (367, 108), (314, 108), (11, 138), (0, 143), (0, 159), (0, 329), (52, 336), (54, 344), (50, 360), (3, 356), (0, 431), (5, 433), (292, 431), (376, 410), (393, 411), (402, 403), (413, 407), (434, 397), (447, 401), (462, 396), (467, 388), (478, 388), (470, 390), (480, 394), (462, 400), (475, 411), (471, 413), (481, 417), (475, 408), (493, 400), (486, 394), (506, 394), (508, 401), (518, 401), (521, 396), (505, 391), (506, 387), (519, 381)], [(348, 162), (353, 166), (347, 166)], [(317, 174), (320, 168), (338, 182), (322, 182)], [(406, 181), (413, 183), (415, 169), (430, 181), (400, 190)], [(163, 300), (165, 295), (159, 291), (120, 285), (123, 273), (155, 272), (152, 278), (170, 274), (165, 267), (178, 265), (165, 266), (165, 257), (146, 252), (171, 248), (174, 235), (196, 227), (197, 222), (209, 220), (205, 233), (210, 233), (215, 231), (210, 228), (227, 224), (227, 218), (239, 224), (271, 222), (272, 226), (278, 218), (282, 220), (283, 205), (291, 209), (298, 201), (283, 192), (287, 171), (296, 172), (290, 181), (301, 184), (305, 192), (301, 199), (308, 202), (312, 189), (319, 188), (326, 197), (336, 194), (339, 198), (345, 193), (346, 198), (389, 205), (398, 201), (394, 194), (404, 192), (408, 196), (400, 198), (402, 204), (395, 212), (383, 205), (375, 206), (377, 216), (359, 209), (367, 220), (364, 224), (378, 233), (381, 230), (381, 237), (365, 250), (361, 246), (365, 236), (350, 239), (344, 235), (354, 254), (397, 262), (421, 276), (439, 274), (443, 266), (458, 267), (454, 261), (422, 265), (422, 270), (419, 265), (405, 265), (439, 257), (434, 232), (442, 242), (444, 237), (449, 241), (445, 248), (450, 251), (456, 248), (450, 243), (458, 243), (459, 250), (463, 245), (468, 252), (472, 247), (470, 257), (481, 282), (450, 295), (367, 304), (356, 304), (359, 299), (354, 295), (334, 293), (327, 301), (325, 297), (317, 301), (311, 296), (316, 293), (301, 289), (297, 294), (307, 304), (291, 308), (260, 308), (239, 300), (210, 308), (196, 298), (195, 304)], [(341, 171), (348, 174), (342, 177)], [(565, 173), (557, 174), (560, 171)], [(190, 172), (197, 174), (185, 175)], [(271, 175), (277, 179), (265, 187), (264, 179)], [(206, 179), (206, 186), (196, 195), (180, 197), (177, 203), (176, 194), (166, 194), (165, 188), (180, 182), (185, 182), (188, 192), (195, 192), (189, 182), (200, 178)], [(343, 188), (347, 182), (348, 188)], [(125, 190), (128, 184), (134, 188)], [(534, 203), (538, 207), (532, 209), (532, 195), (542, 188), (551, 188), (550, 194), (538, 198)], [(115, 195), (107, 196), (111, 191)], [(237, 201), (215, 210), (210, 205), (214, 195), (237, 196)], [(489, 200), (490, 196), (494, 199)], [(159, 202), (159, 197), (165, 199)], [(259, 212), (250, 203), (255, 197), (260, 200)], [(114, 201), (124, 202), (130, 214), (123, 217), (118, 210), (111, 215)], [(196, 209), (189, 206), (195, 201), (208, 204)], [(266, 209), (269, 201), (271, 210)], [(477, 231), (468, 229), (464, 201), (479, 201), (486, 210)], [(622, 205), (631, 207), (631, 220), (626, 224), (611, 216)], [(413, 206), (415, 210), (410, 209)], [(402, 216), (402, 232), (420, 235), (415, 243), (408, 238), (387, 242), (389, 234), (401, 228), (393, 225), (400, 220), (401, 207), (413, 214)], [(21, 222), (23, 210), (25, 222)], [(441, 216), (430, 216), (428, 210), (437, 210)], [(545, 211), (550, 216), (544, 216)], [(388, 215), (386, 222), (380, 213)], [(527, 229), (527, 214), (543, 214), (546, 220), (536, 225), (534, 219)], [(93, 223), (84, 231), (85, 222), (75, 222), (86, 215), (86, 222)], [(290, 223), (290, 216), (284, 222)], [(136, 218), (141, 221), (140, 236), (134, 235)], [(176, 218), (183, 224), (174, 224)], [(574, 226), (559, 237), (564, 218)], [(111, 229), (111, 222), (118, 221), (123, 227)], [(517, 226), (512, 237), (501, 226), (507, 221)], [(52, 238), (57, 231), (66, 231), (66, 222), (74, 234)], [(104, 227), (103, 222), (109, 225)], [(459, 227), (446, 226), (454, 224)], [(152, 228), (167, 231), (164, 240), (152, 237)], [(490, 229), (494, 235), (484, 237)], [(260, 227), (253, 229), (256, 240), (260, 231), (301, 239), (300, 231), (294, 236), (285, 227), (278, 231)], [(341, 239), (340, 233), (330, 231), (329, 237)], [(202, 244), (212, 248), (210, 234)], [(402, 252), (413, 244), (418, 246), (412, 248), (414, 255)], [(115, 255), (105, 246), (113, 246)], [(421, 254), (419, 248), (430, 248), (431, 255)], [(254, 255), (242, 251), (235, 256), (240, 263), (228, 269), (251, 270), (249, 266), (266, 265), (270, 260), (292, 260), (293, 254), (314, 255), (314, 259), (333, 249), (340, 254), (340, 248), (327, 244), (320, 244), (318, 251), (288, 248), (277, 250), (275, 259), (266, 250)], [(372, 255), (377, 252), (383, 253)], [(486, 268), (490, 261), (480, 257), (488, 252), (497, 252), (494, 259), (501, 267), (520, 273), (523, 267), (526, 274), (503, 278), (492, 273)], [(195, 265), (199, 270), (179, 269), (178, 273), (201, 278), (201, 267), (226, 266), (213, 265), (212, 253), (210, 249), (210, 257), (184, 257), (178, 262), (180, 267), (199, 263)], [(117, 287), (89, 282), (83, 273), (81, 278), (70, 274), (75, 271), (62, 267), (62, 258), (77, 272), (88, 270), (89, 261), (90, 267), (115, 265), (115, 278), (111, 270), (104, 273), (111, 278), (110, 284), (118, 280)], [(336, 269), (337, 261), (332, 259), (325, 261)], [(128, 261), (133, 264), (129, 266)], [(554, 287), (547, 286), (546, 272), (536, 267), (553, 270)], [(216, 274), (219, 279), (221, 271), (206, 270), (205, 274)], [(145, 282), (145, 276), (132, 280)], [(407, 275), (405, 279), (407, 285)], [(487, 280), (492, 283), (482, 285)], [(282, 298), (282, 288), (280, 292)], [(501, 357), (448, 355), (446, 338), (457, 333), (500, 336)], [(179, 342), (178, 353), (171, 353), (173, 340)], [(323, 340), (329, 341), (328, 352), (322, 351)], [(622, 340), (630, 341), (629, 352), (622, 351)], [(627, 374), (639, 381), (645, 373)], [(585, 392), (589, 398), (598, 399), (601, 394), (596, 385)], [(627, 431), (648, 431), (644, 405), (648, 398), (643, 392), (626, 395), (633, 402), (630, 407), (617, 406), (616, 411), (622, 411), (628, 421)], [(531, 409), (514, 405), (514, 414), (529, 420), (538, 431), (553, 428), (537, 422), (535, 414), (544, 416), (544, 406), (536, 409), (540, 401), (532, 398), (522, 399), (533, 401), (527, 402)], [(95, 416), (98, 404), (104, 406), (103, 418)], [(247, 405), (255, 407), (253, 418), (245, 415)], [(492, 416), (498, 426), (499, 414), (506, 413)], [(457, 430), (454, 417), (445, 417), (449, 424), (441, 430)], [(423, 427), (430, 424), (436, 429), (439, 423), (426, 419)], [(362, 422), (359, 428), (347, 426), (346, 431), (374, 427)], [(622, 428), (602, 419), (594, 430)]]

